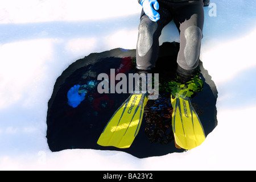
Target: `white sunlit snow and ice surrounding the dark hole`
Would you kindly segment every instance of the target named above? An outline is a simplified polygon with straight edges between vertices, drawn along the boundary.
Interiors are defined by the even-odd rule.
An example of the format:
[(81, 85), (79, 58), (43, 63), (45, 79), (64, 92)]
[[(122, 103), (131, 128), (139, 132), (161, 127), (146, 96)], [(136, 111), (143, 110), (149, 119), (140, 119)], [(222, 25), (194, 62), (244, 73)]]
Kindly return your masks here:
[[(134, 49), (138, 2), (1, 1), (0, 169), (255, 170), (256, 2), (211, 2), (201, 60), (217, 86), (218, 126), (191, 151), (138, 159), (118, 151), (51, 152), (46, 140), (56, 78), (89, 53)], [(179, 41), (174, 23), (163, 30), (160, 43), (166, 41)]]

